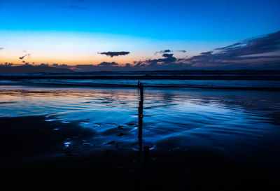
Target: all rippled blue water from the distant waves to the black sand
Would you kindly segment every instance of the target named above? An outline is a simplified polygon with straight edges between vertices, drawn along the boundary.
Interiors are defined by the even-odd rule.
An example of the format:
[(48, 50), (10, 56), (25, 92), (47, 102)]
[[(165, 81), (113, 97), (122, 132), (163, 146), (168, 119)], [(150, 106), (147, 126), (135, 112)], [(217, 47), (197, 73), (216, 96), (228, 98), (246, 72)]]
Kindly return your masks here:
[[(119, 148), (135, 149), (139, 106), (137, 87), (71, 87), (68, 80), (44, 82), (53, 85), (38, 80), (32, 83), (2, 80), (0, 118), (44, 115), (45, 122), (75, 123), (77, 128), (91, 129), (94, 136), (87, 140), (83, 137), (76, 139), (92, 146), (93, 150), (116, 143)], [(64, 84), (58, 85), (60, 82)], [(153, 150), (188, 150), (195, 146), (215, 148), (232, 157), (272, 158), (279, 148), (280, 92), (178, 87), (186, 85), (184, 81), (177, 83), (178, 80), (141, 82), (144, 85), (167, 84), (165, 87), (144, 87), (143, 139), (144, 144)], [(75, 83), (85, 81), (76, 80)], [(109, 83), (116, 83), (116, 80), (107, 80), (106, 84)], [(137, 83), (137, 80), (119, 83)], [(176, 85), (169, 87), (172, 83)], [(188, 83), (213, 87), (279, 85), (278, 81), (252, 80), (250, 83), (246, 80)], [(54, 127), (53, 131), (59, 132), (59, 127)], [(62, 144), (71, 146), (71, 139), (69, 137)]]

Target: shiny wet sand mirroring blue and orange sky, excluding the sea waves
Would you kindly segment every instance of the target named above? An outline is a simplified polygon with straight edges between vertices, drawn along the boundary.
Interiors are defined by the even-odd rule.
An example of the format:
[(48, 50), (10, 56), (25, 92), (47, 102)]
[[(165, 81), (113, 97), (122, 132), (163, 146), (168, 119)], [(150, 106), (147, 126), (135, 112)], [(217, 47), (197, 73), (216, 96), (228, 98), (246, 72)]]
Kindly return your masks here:
[[(279, 125), (278, 92), (148, 89), (144, 103), (144, 141), (177, 146), (207, 142), (257, 140)], [(46, 122), (79, 122), (92, 128), (101, 142), (133, 143), (137, 128), (139, 92), (130, 88), (23, 88), (1, 90), (2, 116), (45, 115)], [(120, 132), (117, 127), (125, 129)], [(230, 143), (230, 145), (234, 143)]]

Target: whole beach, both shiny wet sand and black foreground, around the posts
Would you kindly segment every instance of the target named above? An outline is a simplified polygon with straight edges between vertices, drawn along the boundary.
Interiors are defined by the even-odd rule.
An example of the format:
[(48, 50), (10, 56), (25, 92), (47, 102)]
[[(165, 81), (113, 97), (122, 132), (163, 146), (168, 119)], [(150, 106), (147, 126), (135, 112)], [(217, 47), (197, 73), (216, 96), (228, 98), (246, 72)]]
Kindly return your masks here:
[[(11, 188), (140, 190), (138, 88), (68, 83), (2, 81), (2, 182)], [(279, 186), (279, 92), (146, 84), (148, 190)]]

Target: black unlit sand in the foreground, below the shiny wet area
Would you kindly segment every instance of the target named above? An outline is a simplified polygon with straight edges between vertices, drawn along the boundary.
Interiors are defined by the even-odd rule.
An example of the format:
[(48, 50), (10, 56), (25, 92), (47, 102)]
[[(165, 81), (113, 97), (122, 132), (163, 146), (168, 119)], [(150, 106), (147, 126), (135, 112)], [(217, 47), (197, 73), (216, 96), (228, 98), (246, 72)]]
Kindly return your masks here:
[[(136, 150), (115, 143), (103, 149), (78, 143), (75, 149), (65, 148), (62, 143), (69, 136), (86, 139), (94, 132), (44, 120), (0, 118), (1, 188), (140, 190)], [(207, 146), (151, 150), (148, 162), (148, 190), (278, 190), (280, 185), (279, 165), (265, 168), (233, 160)]]

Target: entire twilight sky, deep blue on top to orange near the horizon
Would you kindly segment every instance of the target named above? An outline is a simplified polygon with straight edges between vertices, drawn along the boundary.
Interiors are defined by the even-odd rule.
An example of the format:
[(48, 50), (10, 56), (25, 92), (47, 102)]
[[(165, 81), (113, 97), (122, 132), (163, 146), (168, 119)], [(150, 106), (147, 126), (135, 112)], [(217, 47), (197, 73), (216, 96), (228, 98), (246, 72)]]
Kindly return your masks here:
[[(66, 64), (78, 70), (83, 65), (275, 69), (279, 10), (279, 0), (0, 0), (0, 63)], [(235, 43), (242, 59), (229, 55), (233, 49), (227, 47)], [(250, 55), (240, 51), (250, 48), (255, 50)]]

